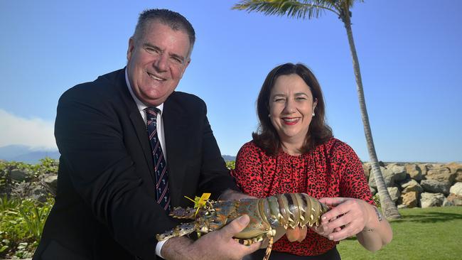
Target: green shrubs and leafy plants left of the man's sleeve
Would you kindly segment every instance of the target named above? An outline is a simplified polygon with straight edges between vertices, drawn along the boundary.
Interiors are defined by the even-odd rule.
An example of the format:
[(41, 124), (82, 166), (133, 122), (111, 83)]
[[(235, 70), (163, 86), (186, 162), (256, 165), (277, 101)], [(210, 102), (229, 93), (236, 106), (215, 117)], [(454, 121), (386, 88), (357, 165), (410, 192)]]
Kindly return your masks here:
[[(11, 170), (22, 170), (25, 180), (12, 180)], [(0, 259), (32, 256), (54, 200), (50, 193), (45, 202), (28, 195), (43, 175), (57, 172), (58, 162), (50, 158), (36, 165), (0, 161)]]

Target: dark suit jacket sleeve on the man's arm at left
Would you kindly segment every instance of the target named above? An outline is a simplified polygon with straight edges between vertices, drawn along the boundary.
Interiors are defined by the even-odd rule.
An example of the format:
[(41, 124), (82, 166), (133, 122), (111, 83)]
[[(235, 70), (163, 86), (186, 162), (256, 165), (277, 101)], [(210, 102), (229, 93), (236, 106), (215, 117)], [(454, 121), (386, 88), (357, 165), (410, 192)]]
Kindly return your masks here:
[(70, 90), (58, 104), (55, 138), (71, 188), (119, 244), (142, 259), (156, 259), (155, 234), (175, 223), (141, 187), (119, 112), (103, 97), (88, 95)]

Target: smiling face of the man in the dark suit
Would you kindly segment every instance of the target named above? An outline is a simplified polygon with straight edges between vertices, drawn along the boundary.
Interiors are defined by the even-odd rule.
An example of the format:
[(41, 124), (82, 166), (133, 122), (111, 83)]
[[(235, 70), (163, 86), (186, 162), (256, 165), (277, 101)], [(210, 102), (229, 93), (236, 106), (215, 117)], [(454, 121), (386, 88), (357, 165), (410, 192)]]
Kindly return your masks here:
[(138, 39), (130, 38), (127, 72), (136, 97), (147, 106), (165, 102), (190, 63), (189, 52), (188, 34), (159, 21), (147, 24)]

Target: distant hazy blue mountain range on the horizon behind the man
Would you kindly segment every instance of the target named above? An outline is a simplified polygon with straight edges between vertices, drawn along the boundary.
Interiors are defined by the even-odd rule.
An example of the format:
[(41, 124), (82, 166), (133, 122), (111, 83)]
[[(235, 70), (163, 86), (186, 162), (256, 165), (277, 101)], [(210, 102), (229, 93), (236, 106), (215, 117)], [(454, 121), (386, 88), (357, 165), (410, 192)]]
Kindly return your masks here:
[[(0, 160), (4, 161), (22, 161), (23, 163), (39, 163), (40, 159), (45, 157), (59, 159), (60, 153), (57, 150), (36, 150), (23, 145), (11, 145), (0, 147)], [(225, 161), (235, 161), (236, 156), (224, 155)]]

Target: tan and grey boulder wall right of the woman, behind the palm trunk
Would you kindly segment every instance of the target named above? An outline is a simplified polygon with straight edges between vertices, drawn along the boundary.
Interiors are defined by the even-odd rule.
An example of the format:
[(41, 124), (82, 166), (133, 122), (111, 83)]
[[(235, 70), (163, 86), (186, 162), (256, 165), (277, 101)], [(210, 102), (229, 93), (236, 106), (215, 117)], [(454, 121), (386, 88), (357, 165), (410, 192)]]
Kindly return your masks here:
[[(372, 164), (363, 163), (372, 195)], [(388, 192), (398, 208), (462, 206), (462, 163), (380, 163)]]

